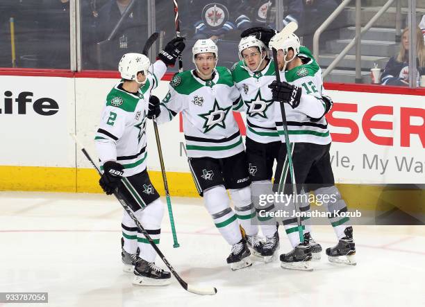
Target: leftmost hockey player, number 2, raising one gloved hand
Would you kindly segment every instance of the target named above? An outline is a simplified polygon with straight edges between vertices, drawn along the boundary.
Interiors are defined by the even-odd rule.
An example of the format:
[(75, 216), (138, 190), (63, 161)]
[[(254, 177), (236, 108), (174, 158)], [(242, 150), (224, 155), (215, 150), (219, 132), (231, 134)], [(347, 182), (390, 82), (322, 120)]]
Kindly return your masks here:
[[(103, 175), (99, 184), (106, 194), (117, 191), (155, 243), (160, 240), (163, 203), (146, 170), (146, 121), (151, 90), (184, 49), (182, 38), (169, 42), (152, 65), (140, 53), (126, 53), (119, 61), (122, 80), (110, 90), (101, 114), (95, 143)], [(154, 72), (154, 73), (153, 73)], [(156, 252), (138, 233), (135, 222), (124, 211), (122, 261), (124, 271), (134, 272), (133, 283), (166, 285), (170, 273), (155, 265)]]

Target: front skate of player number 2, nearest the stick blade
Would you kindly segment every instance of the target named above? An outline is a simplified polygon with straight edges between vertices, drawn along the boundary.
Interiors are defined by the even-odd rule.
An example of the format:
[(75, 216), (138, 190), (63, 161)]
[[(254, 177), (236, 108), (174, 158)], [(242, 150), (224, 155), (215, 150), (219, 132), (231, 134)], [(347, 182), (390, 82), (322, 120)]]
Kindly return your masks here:
[(147, 262), (138, 258), (134, 267), (134, 285), (139, 286), (165, 286), (171, 279), (170, 272), (160, 269), (154, 262)]

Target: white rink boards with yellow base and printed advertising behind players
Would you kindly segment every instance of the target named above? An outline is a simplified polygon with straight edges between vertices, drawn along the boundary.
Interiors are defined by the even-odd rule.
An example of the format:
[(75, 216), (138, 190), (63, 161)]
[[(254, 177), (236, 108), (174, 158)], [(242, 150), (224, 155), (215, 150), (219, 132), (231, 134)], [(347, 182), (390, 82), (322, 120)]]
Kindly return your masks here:
[[(31, 75), (31, 74), (30, 74)], [(76, 133), (93, 157), (94, 133), (106, 94), (117, 79), (0, 76), (0, 190), (100, 192), (98, 176), (76, 150)], [(154, 91), (167, 94), (169, 76)], [(425, 184), (424, 89), (370, 85), (326, 85), (335, 102), (327, 119), (335, 180), (347, 193), (385, 184)], [(243, 117), (243, 116), (242, 116)], [(235, 118), (244, 132), (240, 114)], [(163, 191), (151, 122), (148, 170)], [(165, 168), (172, 195), (194, 196), (181, 118), (160, 126)], [(364, 186), (366, 185), (366, 186)], [(376, 186), (377, 185), (377, 186)]]

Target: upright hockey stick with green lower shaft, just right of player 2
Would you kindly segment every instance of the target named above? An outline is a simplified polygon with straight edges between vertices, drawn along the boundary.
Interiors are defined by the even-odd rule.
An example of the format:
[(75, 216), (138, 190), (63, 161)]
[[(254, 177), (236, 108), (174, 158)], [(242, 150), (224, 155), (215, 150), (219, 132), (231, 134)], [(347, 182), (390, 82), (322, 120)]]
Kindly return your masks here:
[[(144, 55), (147, 55), (147, 53), (149, 52), (149, 49), (151, 48), (153, 42), (155, 42), (158, 39), (158, 37), (159, 37), (158, 32), (155, 32), (148, 38), (148, 40), (146, 41), (146, 44), (144, 45), (143, 51), (142, 51), (142, 53)], [(160, 46), (160, 49), (162, 49), (162, 46)], [(152, 70), (153, 70), (153, 67), (152, 67)], [(153, 71), (152, 71), (152, 73), (153, 73)], [(178, 241), (177, 241), (176, 226), (174, 225), (173, 209), (172, 209), (172, 205), (171, 205), (171, 199), (169, 198), (167, 174), (165, 173), (163, 150), (161, 149), (161, 142), (160, 142), (160, 137), (159, 137), (159, 132), (158, 132), (158, 125), (156, 123), (155, 118), (153, 118), (153, 130), (155, 130), (156, 146), (158, 147), (158, 156), (160, 158), (161, 173), (163, 174), (165, 199), (167, 200), (169, 223), (171, 224), (172, 234), (173, 234), (173, 243), (174, 243), (173, 247), (177, 248), (177, 247), (180, 247), (180, 244), (178, 244)]]

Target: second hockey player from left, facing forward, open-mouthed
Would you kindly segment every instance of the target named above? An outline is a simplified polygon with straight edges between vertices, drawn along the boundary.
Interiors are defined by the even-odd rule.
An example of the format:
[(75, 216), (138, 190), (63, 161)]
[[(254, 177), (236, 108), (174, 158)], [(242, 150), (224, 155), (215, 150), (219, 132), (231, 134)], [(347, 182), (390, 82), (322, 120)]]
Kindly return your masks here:
[[(199, 195), (231, 254), (232, 270), (252, 265), (239, 227), (255, 215), (242, 137), (232, 109), (240, 105), (238, 89), (226, 67), (216, 67), (218, 49), (212, 40), (198, 40), (192, 49), (196, 69), (177, 73), (169, 92), (158, 105), (150, 105), (158, 123), (183, 115), (186, 152)], [(230, 207), (228, 189), (235, 211)], [(250, 223), (248, 223), (250, 225)], [(245, 229), (247, 236), (253, 235)], [(256, 234), (256, 233), (254, 233)]]

